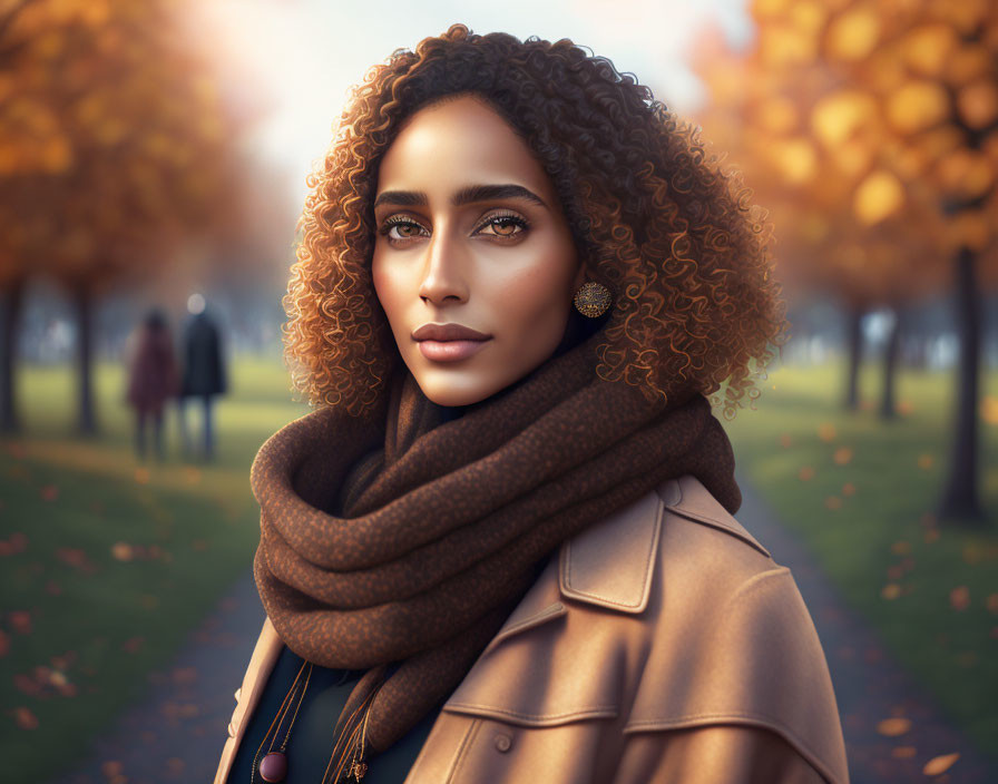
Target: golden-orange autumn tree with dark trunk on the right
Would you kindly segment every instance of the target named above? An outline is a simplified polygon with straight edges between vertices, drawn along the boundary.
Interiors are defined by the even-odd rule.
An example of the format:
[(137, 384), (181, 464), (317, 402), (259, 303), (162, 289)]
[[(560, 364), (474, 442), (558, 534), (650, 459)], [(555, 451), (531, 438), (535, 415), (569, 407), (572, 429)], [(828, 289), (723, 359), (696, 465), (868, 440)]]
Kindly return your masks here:
[(998, 6), (756, 0), (752, 16), (759, 35), (750, 51), (713, 65), (703, 58), (720, 105), (705, 125), (731, 137), (759, 199), (774, 205), (791, 276), (828, 282), (858, 307), (877, 301), (899, 311), (940, 286), (942, 273), (952, 281), (961, 357), (940, 513), (979, 520), (980, 291), (996, 277)]

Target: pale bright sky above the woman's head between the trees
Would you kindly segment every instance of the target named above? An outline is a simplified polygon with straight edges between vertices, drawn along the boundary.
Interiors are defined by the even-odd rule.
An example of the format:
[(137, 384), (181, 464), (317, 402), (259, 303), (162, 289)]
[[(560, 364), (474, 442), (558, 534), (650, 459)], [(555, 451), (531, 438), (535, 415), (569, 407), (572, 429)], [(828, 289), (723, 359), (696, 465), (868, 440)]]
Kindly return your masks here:
[(736, 46), (751, 37), (744, 0), (217, 0), (205, 14), (216, 55), (251, 75), (247, 96), (266, 108), (253, 144), (287, 171), (302, 198), (349, 88), (393, 50), (454, 22), (520, 39), (570, 38), (635, 74), (681, 114), (702, 100), (686, 65), (702, 26), (717, 24)]

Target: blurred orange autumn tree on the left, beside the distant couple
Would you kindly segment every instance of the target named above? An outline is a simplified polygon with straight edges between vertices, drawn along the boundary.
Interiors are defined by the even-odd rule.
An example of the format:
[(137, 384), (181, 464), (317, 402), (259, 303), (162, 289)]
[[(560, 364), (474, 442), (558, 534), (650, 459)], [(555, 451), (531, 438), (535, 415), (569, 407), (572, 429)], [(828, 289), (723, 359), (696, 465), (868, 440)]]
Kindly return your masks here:
[(185, 7), (27, 0), (0, 21), (0, 224), (16, 228), (0, 236), (0, 286), (10, 298), (43, 272), (69, 292), (84, 432), (95, 303), (231, 224), (237, 203), (245, 118), (184, 43)]

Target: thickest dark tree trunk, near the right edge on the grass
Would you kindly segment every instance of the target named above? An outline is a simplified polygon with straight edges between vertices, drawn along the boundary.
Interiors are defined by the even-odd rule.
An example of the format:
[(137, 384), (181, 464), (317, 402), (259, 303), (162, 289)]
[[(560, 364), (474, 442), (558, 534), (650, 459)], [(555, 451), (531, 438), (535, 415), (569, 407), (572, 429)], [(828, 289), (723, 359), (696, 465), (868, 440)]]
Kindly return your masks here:
[(938, 513), (940, 519), (982, 523), (978, 496), (978, 380), (980, 376), (981, 300), (975, 270), (976, 254), (963, 247), (956, 258), (956, 311), (960, 336), (957, 395), (949, 477)]

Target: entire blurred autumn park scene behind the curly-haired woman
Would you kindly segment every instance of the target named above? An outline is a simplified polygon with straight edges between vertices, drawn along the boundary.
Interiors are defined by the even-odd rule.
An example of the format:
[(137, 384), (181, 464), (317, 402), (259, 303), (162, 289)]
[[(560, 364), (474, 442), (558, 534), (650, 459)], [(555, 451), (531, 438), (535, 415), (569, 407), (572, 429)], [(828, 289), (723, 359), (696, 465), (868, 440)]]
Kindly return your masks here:
[(994, 782), (998, 6), (0, 0), (0, 756), (206, 781), (263, 614), (248, 469), (305, 177), (348, 88), (453, 22), (571, 38), (775, 226), (792, 336), (726, 422), (853, 782)]

